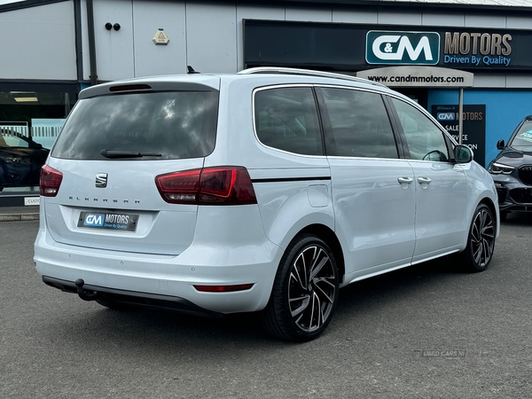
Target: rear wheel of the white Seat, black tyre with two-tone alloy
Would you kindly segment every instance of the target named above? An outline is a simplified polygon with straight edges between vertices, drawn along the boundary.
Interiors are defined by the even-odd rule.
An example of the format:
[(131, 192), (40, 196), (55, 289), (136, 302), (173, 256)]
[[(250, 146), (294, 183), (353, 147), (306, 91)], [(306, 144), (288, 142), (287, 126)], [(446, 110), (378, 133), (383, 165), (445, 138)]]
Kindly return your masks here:
[(329, 246), (314, 235), (297, 236), (279, 263), (262, 323), (283, 340), (314, 340), (331, 321), (338, 290), (338, 267)]

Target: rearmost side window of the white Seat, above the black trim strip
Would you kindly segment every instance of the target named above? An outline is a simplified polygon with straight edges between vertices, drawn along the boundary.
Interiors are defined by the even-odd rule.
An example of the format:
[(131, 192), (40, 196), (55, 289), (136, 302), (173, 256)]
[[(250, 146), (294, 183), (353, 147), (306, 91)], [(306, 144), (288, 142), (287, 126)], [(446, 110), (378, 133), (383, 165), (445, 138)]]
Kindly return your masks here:
[(257, 90), (254, 123), (257, 137), (264, 145), (303, 155), (324, 153), (310, 87)]

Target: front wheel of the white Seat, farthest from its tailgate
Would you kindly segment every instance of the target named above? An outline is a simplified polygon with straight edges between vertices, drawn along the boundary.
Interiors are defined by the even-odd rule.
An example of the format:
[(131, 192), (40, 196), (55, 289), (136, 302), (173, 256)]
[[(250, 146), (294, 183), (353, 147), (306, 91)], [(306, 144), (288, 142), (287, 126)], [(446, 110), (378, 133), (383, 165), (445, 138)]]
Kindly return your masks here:
[(479, 272), (488, 269), (495, 247), (496, 223), (493, 212), (485, 204), (476, 207), (467, 236), (467, 246), (460, 254), (465, 270)]

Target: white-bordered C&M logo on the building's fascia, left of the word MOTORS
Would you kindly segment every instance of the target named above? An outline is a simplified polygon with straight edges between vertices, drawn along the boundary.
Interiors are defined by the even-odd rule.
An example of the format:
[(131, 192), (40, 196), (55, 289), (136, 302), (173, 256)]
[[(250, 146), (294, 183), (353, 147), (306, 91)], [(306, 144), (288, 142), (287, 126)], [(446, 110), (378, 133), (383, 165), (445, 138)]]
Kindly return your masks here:
[(436, 32), (370, 30), (366, 35), (368, 64), (436, 65), (440, 35)]

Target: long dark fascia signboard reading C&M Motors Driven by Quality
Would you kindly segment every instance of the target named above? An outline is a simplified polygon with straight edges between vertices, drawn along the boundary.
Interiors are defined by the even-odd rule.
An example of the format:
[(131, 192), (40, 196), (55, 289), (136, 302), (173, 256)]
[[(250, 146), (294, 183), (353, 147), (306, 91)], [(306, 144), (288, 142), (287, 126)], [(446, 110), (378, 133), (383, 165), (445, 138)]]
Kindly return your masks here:
[(328, 71), (425, 65), (474, 71), (532, 68), (532, 31), (244, 20), (244, 63)]

